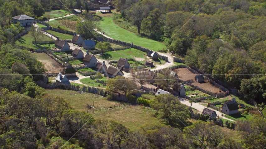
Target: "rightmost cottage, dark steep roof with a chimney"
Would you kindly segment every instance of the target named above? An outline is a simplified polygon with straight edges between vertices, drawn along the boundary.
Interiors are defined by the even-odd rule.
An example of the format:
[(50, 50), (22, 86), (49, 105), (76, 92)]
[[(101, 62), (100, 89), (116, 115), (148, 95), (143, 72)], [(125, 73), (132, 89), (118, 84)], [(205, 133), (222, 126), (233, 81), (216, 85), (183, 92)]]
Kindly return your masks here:
[(239, 107), (237, 102), (235, 101), (235, 98), (233, 98), (231, 101), (225, 102), (221, 109), (221, 112), (227, 115), (233, 115), (238, 113)]

